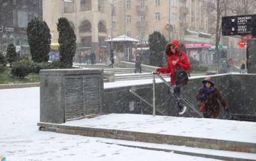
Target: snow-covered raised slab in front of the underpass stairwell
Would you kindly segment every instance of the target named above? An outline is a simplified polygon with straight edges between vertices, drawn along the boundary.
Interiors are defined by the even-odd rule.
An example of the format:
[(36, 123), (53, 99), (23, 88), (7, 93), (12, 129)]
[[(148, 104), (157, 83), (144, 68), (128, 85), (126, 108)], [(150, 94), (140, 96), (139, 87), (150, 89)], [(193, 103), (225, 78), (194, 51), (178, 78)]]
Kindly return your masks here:
[(256, 143), (256, 123), (225, 119), (107, 114), (64, 125)]

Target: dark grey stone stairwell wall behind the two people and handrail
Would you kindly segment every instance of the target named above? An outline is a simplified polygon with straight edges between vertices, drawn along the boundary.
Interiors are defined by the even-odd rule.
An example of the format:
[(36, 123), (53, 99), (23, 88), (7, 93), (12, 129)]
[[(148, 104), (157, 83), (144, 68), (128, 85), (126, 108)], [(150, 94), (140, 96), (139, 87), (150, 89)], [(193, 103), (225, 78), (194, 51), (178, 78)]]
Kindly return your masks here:
[[(205, 76), (207, 77), (207, 76)], [(205, 77), (190, 79), (189, 84), (182, 89), (182, 95), (185, 96), (196, 107), (196, 95), (198, 89), (202, 86), (202, 80)], [(256, 87), (252, 82), (256, 81), (256, 74), (247, 75), (213, 75), (216, 87), (221, 91), (228, 105), (230, 105), (230, 113), (235, 114), (256, 114), (255, 104)], [(142, 96), (152, 104), (153, 91), (152, 84), (140, 86), (127, 86), (120, 88), (104, 89), (103, 112), (106, 113), (136, 113), (136, 114), (152, 114), (152, 109), (148, 107), (136, 96), (129, 93), (129, 89), (133, 89), (138, 95)], [(175, 107), (173, 96), (168, 94), (168, 87), (164, 83), (156, 85), (156, 106), (168, 116), (179, 116)], [(188, 108), (184, 117), (199, 117), (196, 112)], [(220, 108), (219, 118), (228, 118)]]

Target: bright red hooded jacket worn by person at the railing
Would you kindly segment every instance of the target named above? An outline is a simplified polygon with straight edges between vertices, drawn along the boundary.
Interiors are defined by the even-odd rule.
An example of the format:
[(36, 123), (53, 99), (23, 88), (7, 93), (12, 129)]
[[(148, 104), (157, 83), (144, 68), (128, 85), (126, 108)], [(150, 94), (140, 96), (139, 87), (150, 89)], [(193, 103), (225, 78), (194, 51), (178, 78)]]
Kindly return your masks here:
[[(174, 44), (178, 49), (180, 49), (179, 41), (172, 41), (170, 44)], [(177, 64), (173, 66), (172, 61), (177, 61)], [(173, 54), (171, 51), (168, 54), (168, 65), (165, 68), (157, 68), (157, 72), (159, 73), (170, 73), (171, 83), (175, 83), (174, 78), (174, 69), (175, 68), (184, 68), (184, 70), (190, 69), (190, 63), (188, 60), (188, 56), (185, 52), (180, 51), (180, 53)]]

